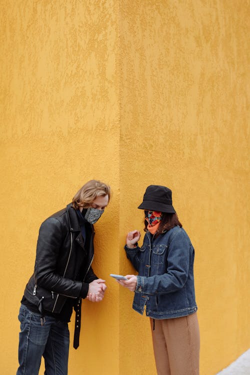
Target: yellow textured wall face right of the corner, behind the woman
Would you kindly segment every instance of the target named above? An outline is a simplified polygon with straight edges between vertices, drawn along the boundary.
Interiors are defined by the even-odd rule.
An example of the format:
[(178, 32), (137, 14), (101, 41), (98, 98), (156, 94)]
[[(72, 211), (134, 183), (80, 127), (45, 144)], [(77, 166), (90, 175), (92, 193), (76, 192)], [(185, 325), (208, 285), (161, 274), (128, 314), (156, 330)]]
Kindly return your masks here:
[[(136, 207), (147, 185), (172, 188), (196, 250), (200, 374), (212, 375), (250, 346), (249, 8), (228, 0), (120, 3), (120, 232), (143, 228)], [(128, 261), (121, 272), (133, 272)], [(120, 297), (120, 373), (139, 356), (136, 375), (152, 375), (149, 322), (128, 298)], [(129, 356), (127, 341), (137, 343)]]

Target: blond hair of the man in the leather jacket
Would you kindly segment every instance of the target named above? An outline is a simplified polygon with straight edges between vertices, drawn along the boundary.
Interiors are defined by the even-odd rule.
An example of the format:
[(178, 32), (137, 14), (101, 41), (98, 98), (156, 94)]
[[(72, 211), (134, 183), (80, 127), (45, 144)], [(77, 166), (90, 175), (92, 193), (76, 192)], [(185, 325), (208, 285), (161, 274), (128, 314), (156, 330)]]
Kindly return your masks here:
[(91, 179), (90, 181), (86, 182), (74, 195), (72, 199), (72, 206), (74, 209), (78, 209), (79, 207), (87, 208), (97, 196), (105, 195), (108, 195), (109, 201), (110, 186), (96, 179)]

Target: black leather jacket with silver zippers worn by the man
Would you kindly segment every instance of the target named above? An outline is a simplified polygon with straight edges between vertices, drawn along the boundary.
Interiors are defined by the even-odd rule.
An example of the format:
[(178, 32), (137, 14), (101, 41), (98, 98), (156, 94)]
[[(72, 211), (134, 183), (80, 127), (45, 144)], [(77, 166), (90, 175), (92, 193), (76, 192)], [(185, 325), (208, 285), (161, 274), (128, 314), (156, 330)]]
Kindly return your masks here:
[[(77, 300), (82, 282), (89, 283), (97, 278), (91, 268), (93, 236), (91, 226), (86, 253), (78, 217), (71, 203), (43, 221), (37, 240), (34, 273), (25, 287), (25, 298), (39, 309), (42, 305), (56, 313), (60, 312), (67, 297)], [(84, 258), (87, 261), (82, 270)]]

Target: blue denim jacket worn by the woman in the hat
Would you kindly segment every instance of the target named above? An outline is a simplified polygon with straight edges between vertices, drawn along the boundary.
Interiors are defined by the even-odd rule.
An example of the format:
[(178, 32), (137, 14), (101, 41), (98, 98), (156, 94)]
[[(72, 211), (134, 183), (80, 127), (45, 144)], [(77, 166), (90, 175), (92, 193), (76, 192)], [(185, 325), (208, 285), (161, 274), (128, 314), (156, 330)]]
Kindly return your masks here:
[(143, 245), (124, 247), (138, 271), (133, 309), (155, 319), (192, 314), (197, 310), (194, 294), (194, 249), (183, 228), (175, 226), (156, 238), (146, 232)]

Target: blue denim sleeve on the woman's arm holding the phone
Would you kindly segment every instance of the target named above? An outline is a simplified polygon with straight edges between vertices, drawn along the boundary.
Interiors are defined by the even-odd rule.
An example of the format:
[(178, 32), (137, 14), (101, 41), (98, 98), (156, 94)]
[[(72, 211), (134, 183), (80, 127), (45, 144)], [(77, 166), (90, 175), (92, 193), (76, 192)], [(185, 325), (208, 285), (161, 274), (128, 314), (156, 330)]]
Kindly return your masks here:
[(137, 276), (135, 292), (171, 293), (181, 289), (187, 280), (191, 249), (190, 240), (183, 230), (174, 233), (169, 243), (166, 273), (149, 277)]

